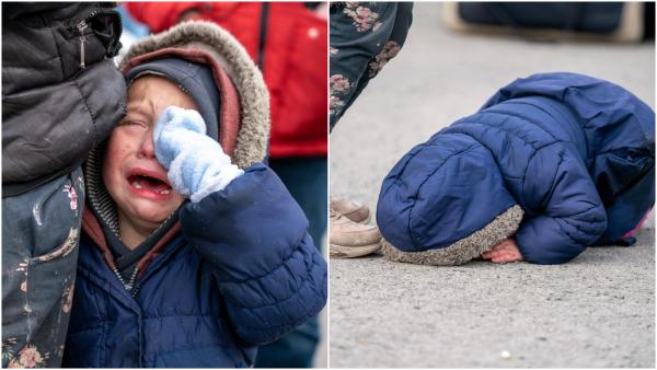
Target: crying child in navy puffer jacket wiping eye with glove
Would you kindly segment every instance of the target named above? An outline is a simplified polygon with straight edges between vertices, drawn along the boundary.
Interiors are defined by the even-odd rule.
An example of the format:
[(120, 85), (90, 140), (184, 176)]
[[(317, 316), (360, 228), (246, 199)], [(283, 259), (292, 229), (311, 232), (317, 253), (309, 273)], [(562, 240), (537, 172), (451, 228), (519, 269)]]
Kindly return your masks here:
[(252, 366), (326, 300), (308, 221), (262, 163), (262, 76), (204, 22), (135, 44), (122, 70), (127, 115), (85, 163), (64, 366)]

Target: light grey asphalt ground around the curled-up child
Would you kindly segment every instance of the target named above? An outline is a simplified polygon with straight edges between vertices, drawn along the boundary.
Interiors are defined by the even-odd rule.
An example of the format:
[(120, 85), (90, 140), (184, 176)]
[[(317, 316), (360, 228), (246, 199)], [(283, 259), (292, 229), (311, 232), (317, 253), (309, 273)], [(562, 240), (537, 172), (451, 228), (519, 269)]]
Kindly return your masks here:
[[(330, 185), (376, 211), (413, 146), (537, 72), (613, 81), (655, 106), (653, 43), (537, 43), (452, 33), (417, 3), (405, 47), (331, 135)], [(557, 266), (331, 259), (330, 366), (655, 367), (655, 220), (631, 247)]]

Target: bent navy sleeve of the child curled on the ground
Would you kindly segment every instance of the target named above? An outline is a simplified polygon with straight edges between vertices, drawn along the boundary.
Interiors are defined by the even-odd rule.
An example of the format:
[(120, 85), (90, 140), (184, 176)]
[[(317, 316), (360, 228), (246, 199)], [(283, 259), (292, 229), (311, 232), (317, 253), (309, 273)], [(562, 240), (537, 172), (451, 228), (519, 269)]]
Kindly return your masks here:
[(568, 147), (556, 143), (537, 151), (522, 192), (530, 212), (520, 224), (516, 241), (528, 262), (566, 263), (598, 240), (607, 228), (596, 186)]

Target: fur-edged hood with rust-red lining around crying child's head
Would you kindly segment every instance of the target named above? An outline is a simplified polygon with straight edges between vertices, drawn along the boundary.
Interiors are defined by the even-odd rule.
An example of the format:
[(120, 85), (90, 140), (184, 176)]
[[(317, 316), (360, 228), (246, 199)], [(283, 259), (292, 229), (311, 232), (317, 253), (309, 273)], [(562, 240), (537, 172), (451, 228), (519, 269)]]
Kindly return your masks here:
[[(240, 43), (212, 23), (185, 22), (134, 44), (119, 69), (126, 74), (147, 61), (172, 57), (210, 66), (220, 93), (218, 141), (233, 163), (245, 169), (265, 160), (269, 95), (262, 73)], [(103, 152), (104, 144), (90, 153), (84, 166), (89, 207), (83, 228), (101, 247), (106, 244), (102, 228), (118, 235), (116, 205), (102, 180)], [(178, 228), (176, 224), (173, 229)]]

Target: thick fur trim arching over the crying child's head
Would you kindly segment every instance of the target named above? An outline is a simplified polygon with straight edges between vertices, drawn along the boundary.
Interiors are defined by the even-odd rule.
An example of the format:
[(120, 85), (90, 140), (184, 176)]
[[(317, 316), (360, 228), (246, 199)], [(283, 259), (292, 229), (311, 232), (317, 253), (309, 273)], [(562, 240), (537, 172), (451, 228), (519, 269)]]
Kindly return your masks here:
[[(234, 144), (233, 162), (245, 169), (267, 155), (269, 139), (269, 94), (263, 76), (242, 45), (227, 31), (210, 22), (191, 21), (151, 35), (128, 49), (119, 63), (124, 73), (130, 68), (152, 58), (171, 56), (188, 50), (188, 58), (216, 62), (230, 77), (240, 102), (240, 122), (235, 143), (220, 142), (222, 147)], [(176, 53), (177, 51), (177, 53)], [(183, 51), (184, 54), (184, 51)], [(221, 85), (221, 72), (215, 69), (215, 79)], [(223, 94), (226, 89), (220, 89)], [(222, 102), (223, 103), (223, 102)], [(219, 119), (220, 127), (224, 124)], [(220, 131), (221, 136), (221, 131)]]

